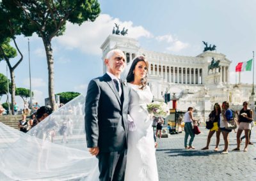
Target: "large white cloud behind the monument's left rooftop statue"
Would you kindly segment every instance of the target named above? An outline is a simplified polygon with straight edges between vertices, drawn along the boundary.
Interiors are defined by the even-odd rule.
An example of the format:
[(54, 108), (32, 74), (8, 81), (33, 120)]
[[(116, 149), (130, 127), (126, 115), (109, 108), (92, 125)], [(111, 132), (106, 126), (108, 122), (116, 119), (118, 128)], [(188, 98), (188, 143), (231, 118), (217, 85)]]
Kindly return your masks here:
[(127, 36), (131, 38), (153, 37), (141, 25), (134, 26), (131, 21), (122, 22), (118, 18), (101, 14), (95, 22), (84, 22), (81, 26), (68, 22), (65, 34), (56, 38), (56, 40), (67, 49), (78, 48), (85, 54), (101, 55), (100, 45), (112, 33), (115, 23), (119, 24), (121, 28), (125, 27), (125, 29), (128, 29)]

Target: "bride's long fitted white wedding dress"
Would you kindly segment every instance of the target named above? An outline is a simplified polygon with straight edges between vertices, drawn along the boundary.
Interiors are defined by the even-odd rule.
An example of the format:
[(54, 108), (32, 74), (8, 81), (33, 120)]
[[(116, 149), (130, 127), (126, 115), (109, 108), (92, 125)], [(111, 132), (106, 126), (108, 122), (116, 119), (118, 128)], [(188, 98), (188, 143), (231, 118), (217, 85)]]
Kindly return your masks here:
[(152, 102), (153, 96), (148, 86), (141, 90), (138, 85), (128, 85), (131, 86), (129, 115), (134, 120), (136, 130), (128, 133), (125, 181), (157, 181), (153, 119), (147, 111), (147, 104)]

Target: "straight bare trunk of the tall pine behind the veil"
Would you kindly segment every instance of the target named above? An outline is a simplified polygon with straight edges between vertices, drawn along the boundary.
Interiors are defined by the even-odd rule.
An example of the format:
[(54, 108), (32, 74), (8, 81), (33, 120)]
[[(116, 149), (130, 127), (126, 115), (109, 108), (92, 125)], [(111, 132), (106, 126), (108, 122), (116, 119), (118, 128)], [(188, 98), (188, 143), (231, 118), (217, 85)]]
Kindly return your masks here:
[(47, 65), (48, 65), (48, 92), (49, 92), (49, 99), (52, 110), (56, 110), (56, 101), (54, 96), (54, 66), (53, 66), (53, 55), (52, 55), (52, 48), (51, 48), (51, 41), (45, 40), (44, 41), (44, 48), (46, 52), (47, 58)]

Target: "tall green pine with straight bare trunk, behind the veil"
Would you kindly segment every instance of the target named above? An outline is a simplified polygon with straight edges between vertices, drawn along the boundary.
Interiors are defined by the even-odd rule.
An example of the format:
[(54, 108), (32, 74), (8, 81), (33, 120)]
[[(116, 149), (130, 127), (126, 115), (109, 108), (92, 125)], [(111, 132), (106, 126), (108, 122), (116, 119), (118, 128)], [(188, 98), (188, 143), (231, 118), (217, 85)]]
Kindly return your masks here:
[(52, 38), (65, 32), (66, 23), (81, 25), (94, 21), (100, 13), (97, 0), (9, 0), (23, 11), (26, 24), (22, 33), (25, 36), (38, 34), (44, 43), (48, 66), (48, 92), (51, 107), (56, 110), (54, 98), (54, 61)]

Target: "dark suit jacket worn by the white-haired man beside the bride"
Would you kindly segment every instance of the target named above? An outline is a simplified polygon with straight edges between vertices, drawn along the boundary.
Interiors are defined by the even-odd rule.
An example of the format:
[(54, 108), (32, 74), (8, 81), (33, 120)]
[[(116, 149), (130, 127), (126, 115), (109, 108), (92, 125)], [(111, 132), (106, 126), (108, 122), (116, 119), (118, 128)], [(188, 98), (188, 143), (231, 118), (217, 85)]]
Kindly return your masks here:
[(100, 152), (127, 148), (129, 88), (122, 83), (122, 96), (108, 74), (91, 80), (85, 101), (87, 147)]

